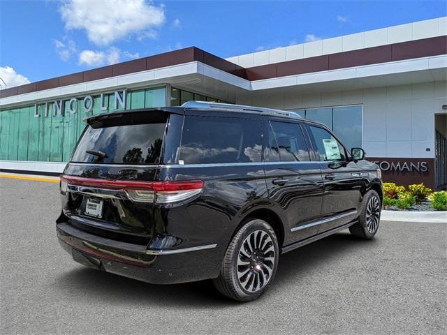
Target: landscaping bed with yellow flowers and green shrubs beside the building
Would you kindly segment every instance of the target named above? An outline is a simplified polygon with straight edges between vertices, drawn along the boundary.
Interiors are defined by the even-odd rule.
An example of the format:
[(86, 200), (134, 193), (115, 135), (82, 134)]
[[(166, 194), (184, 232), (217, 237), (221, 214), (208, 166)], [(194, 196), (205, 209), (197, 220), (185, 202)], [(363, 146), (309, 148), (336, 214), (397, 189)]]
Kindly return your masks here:
[(407, 188), (383, 183), (383, 209), (390, 211), (447, 211), (447, 192), (433, 192), (424, 184)]

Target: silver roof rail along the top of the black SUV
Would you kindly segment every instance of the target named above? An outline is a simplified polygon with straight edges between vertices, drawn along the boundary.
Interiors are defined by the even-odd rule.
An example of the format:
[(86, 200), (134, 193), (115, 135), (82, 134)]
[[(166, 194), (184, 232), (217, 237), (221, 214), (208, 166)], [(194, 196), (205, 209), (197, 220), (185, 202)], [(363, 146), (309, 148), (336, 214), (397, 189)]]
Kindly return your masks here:
[(205, 101), (188, 101), (182, 105), (184, 108), (195, 108), (201, 110), (233, 110), (238, 112), (247, 113), (263, 113), (263, 114), (276, 114), (281, 117), (293, 117), (301, 118), (297, 112), (289, 112), (287, 110), (273, 110), (271, 108), (245, 106), (245, 105), (233, 105), (230, 103), (208, 103)]

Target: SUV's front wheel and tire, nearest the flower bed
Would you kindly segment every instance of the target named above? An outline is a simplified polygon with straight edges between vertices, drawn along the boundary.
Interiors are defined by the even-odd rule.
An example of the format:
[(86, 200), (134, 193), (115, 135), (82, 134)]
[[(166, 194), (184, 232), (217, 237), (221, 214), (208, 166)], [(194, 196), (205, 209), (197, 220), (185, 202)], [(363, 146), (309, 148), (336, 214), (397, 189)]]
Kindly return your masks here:
[(351, 225), (349, 231), (361, 239), (372, 239), (379, 229), (380, 213), (381, 200), (379, 194), (370, 190), (363, 198), (358, 223)]

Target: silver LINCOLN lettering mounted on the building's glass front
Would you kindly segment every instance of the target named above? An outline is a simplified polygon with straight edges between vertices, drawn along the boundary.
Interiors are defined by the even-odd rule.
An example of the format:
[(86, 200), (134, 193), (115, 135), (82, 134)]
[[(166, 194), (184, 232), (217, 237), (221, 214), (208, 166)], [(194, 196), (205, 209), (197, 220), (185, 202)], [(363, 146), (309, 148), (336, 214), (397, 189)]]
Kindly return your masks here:
[[(107, 99), (107, 100), (105, 100)], [(50, 106), (53, 105), (53, 115), (64, 115), (68, 110), (71, 114), (77, 113), (82, 109), (83, 112), (89, 113), (94, 108), (94, 98), (92, 96), (85, 96), (84, 98), (70, 98), (68, 100), (55, 100), (52, 102), (35, 103), (34, 104), (34, 117), (41, 117), (41, 106), (43, 106), (43, 115), (47, 117), (50, 112)], [(126, 90), (115, 91), (113, 93), (113, 109), (119, 108), (126, 109)], [(99, 110), (101, 112), (112, 110), (112, 106), (108, 103), (108, 95), (103, 93), (99, 96)]]

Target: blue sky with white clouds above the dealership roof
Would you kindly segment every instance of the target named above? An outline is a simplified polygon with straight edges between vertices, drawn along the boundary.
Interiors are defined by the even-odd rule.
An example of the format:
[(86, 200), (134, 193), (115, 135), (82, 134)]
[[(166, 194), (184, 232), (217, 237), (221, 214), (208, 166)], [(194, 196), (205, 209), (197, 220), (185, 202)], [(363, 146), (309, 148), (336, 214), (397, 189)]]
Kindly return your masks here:
[(191, 45), (230, 57), (447, 13), (446, 1), (427, 0), (0, 0), (0, 6), (0, 74), (8, 87), (25, 82), (22, 76), (35, 82)]

